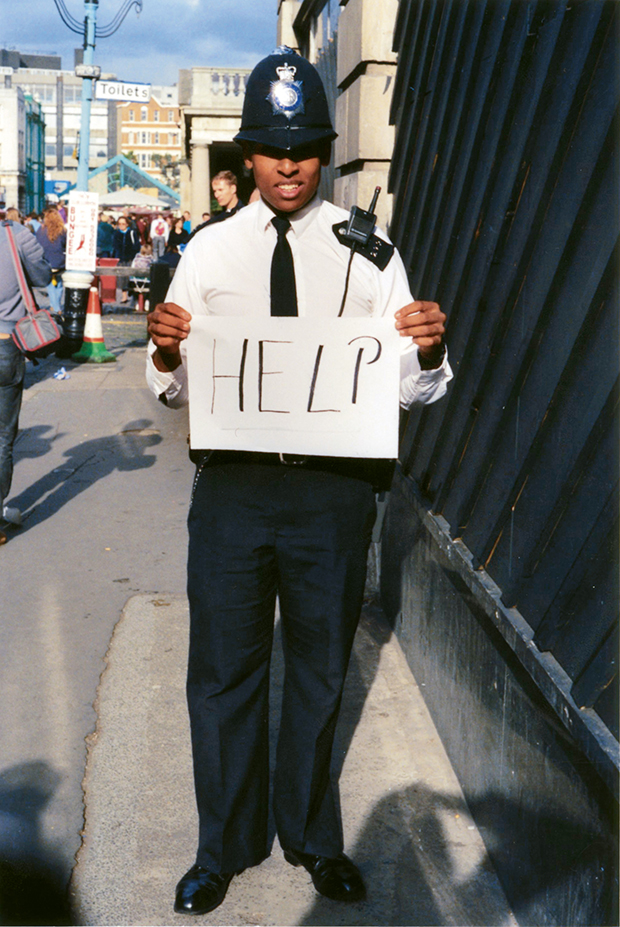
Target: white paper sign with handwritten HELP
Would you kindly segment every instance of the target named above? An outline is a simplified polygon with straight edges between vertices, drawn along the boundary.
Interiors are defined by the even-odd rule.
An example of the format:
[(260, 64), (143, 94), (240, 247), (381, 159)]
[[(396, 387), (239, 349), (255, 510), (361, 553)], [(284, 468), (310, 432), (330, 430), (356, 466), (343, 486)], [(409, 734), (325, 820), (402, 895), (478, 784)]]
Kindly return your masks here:
[(394, 320), (194, 316), (192, 448), (396, 457)]

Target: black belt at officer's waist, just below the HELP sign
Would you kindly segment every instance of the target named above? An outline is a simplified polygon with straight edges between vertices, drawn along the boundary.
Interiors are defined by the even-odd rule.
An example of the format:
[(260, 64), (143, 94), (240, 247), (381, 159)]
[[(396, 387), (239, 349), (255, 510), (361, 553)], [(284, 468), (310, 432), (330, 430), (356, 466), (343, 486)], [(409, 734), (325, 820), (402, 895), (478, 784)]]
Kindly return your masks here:
[(380, 492), (389, 489), (395, 461), (367, 457), (315, 457), (300, 454), (275, 454), (260, 451), (196, 451), (190, 452), (195, 464), (218, 467), (225, 464), (289, 467), (335, 473), (371, 483)]

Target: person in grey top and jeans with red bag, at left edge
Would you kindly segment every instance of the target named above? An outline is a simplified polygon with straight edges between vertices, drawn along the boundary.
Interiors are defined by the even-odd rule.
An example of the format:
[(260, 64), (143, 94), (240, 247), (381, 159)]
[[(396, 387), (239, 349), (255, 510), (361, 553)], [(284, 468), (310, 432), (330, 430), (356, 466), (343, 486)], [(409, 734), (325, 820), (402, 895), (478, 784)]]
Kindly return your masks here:
[[(0, 214), (0, 218), (4, 218)], [(19, 524), (21, 515), (7, 506), (13, 479), (13, 445), (17, 437), (19, 412), (24, 388), (25, 357), (13, 341), (15, 325), (27, 312), (9, 250), (7, 225), (31, 286), (47, 286), (52, 268), (43, 247), (29, 229), (18, 222), (0, 223), (0, 513), (5, 521)], [(7, 536), (0, 531), (0, 544)]]

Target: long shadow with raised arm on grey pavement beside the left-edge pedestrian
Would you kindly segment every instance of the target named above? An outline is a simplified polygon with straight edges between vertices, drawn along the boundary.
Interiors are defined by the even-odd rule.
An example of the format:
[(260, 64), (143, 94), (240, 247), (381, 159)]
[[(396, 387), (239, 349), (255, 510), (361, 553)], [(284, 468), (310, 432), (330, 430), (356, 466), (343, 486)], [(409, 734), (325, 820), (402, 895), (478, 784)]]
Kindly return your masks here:
[[(149, 419), (128, 422), (119, 434), (82, 441), (65, 451), (65, 461), (46, 473), (11, 500), (22, 513), (22, 531), (55, 515), (98, 480), (114, 470), (130, 471), (152, 467), (156, 456), (146, 451), (160, 444), (161, 435)], [(41, 457), (59, 435), (45, 437), (49, 426), (26, 429), (16, 445), (16, 458)]]

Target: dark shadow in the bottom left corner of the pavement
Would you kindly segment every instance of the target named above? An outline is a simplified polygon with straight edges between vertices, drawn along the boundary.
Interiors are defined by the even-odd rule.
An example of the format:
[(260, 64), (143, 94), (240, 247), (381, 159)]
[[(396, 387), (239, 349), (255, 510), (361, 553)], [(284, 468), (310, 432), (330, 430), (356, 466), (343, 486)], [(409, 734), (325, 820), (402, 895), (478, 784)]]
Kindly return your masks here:
[(0, 923), (75, 923), (67, 873), (41, 833), (41, 818), (60, 784), (42, 761), (0, 772)]

